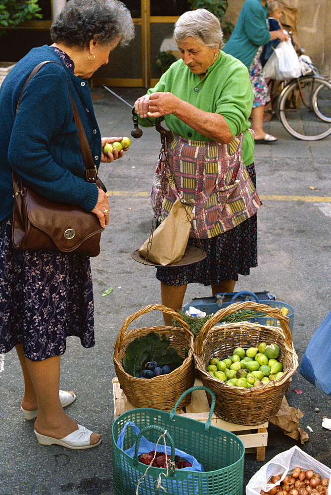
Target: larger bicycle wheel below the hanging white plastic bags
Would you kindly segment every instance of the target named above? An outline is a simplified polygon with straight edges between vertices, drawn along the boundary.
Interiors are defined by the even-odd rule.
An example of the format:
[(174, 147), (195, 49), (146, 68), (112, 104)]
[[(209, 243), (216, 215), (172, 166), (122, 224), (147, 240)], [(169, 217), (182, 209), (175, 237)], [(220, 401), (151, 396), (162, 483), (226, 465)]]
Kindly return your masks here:
[(280, 95), (278, 111), (291, 136), (304, 141), (326, 138), (331, 134), (331, 84), (314, 76), (292, 81)]

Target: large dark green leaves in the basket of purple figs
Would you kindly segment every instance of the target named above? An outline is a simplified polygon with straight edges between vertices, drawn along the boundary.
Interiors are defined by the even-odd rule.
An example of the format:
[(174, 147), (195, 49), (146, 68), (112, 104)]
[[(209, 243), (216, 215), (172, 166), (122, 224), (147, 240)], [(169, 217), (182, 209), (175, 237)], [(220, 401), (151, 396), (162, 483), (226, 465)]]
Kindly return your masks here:
[(155, 332), (137, 337), (130, 342), (122, 359), (124, 371), (139, 378), (148, 361), (156, 361), (160, 367), (168, 364), (173, 371), (181, 366), (184, 359), (174, 347), (170, 347), (170, 344), (170, 340), (164, 334), (160, 338)]

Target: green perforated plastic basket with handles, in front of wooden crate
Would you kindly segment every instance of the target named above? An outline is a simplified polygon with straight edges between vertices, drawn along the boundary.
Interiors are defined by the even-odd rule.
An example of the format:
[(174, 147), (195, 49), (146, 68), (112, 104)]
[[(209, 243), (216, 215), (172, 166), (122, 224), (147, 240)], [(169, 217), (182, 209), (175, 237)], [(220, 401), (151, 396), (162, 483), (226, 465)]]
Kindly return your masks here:
[[(176, 414), (176, 408), (183, 398), (194, 390), (205, 390), (212, 397), (209, 418), (206, 423)], [(161, 475), (162, 487), (168, 495), (241, 495), (243, 488), (243, 463), (245, 447), (241, 440), (231, 432), (211, 426), (211, 416), (215, 407), (215, 394), (204, 386), (192, 387), (176, 402), (171, 412), (158, 409), (138, 408), (121, 414), (112, 426), (113, 479), (116, 495), (136, 495), (139, 480), (139, 495), (160, 495), (165, 493), (156, 489)], [(175, 446), (193, 455), (205, 472), (167, 470), (149, 467), (126, 454), (117, 444), (119, 435), (127, 421), (132, 421), (150, 442), (156, 443), (160, 432), (166, 430), (167, 445)], [(155, 429), (154, 429), (155, 427)], [(148, 433), (148, 437), (146, 435)], [(133, 428), (127, 428), (124, 450), (132, 447), (136, 440)], [(139, 443), (136, 443), (136, 452)], [(145, 474), (146, 473), (146, 474)]]

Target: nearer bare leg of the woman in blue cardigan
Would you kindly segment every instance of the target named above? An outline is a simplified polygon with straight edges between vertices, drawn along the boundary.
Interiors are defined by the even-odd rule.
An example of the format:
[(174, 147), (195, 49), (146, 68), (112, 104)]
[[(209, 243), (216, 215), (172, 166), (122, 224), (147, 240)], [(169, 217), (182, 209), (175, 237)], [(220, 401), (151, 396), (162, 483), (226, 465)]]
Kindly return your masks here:
[[(20, 349), (18, 349), (20, 355)], [(23, 357), (20, 357), (22, 360)], [(38, 416), (35, 429), (42, 435), (61, 439), (78, 429), (77, 422), (67, 416), (59, 398), (60, 356), (49, 357), (44, 361), (31, 361), (24, 357), (23, 376), (26, 372), (28, 388), (31, 384), (37, 396)], [(29, 383), (31, 382), (31, 383)], [(31, 392), (31, 391), (30, 391)], [(91, 445), (96, 444), (100, 435), (93, 433), (90, 437)]]

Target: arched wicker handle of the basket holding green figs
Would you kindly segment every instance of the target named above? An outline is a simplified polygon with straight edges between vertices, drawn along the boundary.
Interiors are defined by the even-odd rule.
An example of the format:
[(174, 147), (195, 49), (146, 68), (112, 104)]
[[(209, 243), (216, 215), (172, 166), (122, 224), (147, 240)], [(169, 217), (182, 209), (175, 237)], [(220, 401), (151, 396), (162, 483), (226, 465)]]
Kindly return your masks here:
[(283, 316), (283, 313), (280, 309), (276, 308), (271, 308), (270, 306), (267, 306), (266, 304), (258, 304), (257, 302), (252, 302), (252, 301), (244, 301), (244, 302), (235, 302), (233, 304), (230, 304), (229, 306), (220, 309), (217, 311), (214, 316), (209, 318), (209, 320), (206, 321), (206, 323), (203, 325), (201, 328), (200, 332), (198, 333), (195, 342), (194, 342), (194, 352), (196, 354), (201, 354), (202, 352), (202, 347), (203, 347), (203, 341), (208, 335), (209, 330), (220, 321), (221, 318), (224, 318), (225, 316), (228, 316), (229, 314), (234, 313), (235, 311), (238, 311), (239, 309), (253, 309), (255, 311), (259, 311), (262, 313), (265, 313), (273, 318), (276, 318), (282, 327), (284, 337), (285, 337), (285, 344), (288, 347), (291, 347), (292, 345), (292, 336), (291, 332), (288, 326), (289, 323), (289, 318), (287, 316)]

